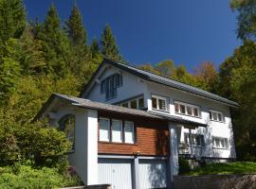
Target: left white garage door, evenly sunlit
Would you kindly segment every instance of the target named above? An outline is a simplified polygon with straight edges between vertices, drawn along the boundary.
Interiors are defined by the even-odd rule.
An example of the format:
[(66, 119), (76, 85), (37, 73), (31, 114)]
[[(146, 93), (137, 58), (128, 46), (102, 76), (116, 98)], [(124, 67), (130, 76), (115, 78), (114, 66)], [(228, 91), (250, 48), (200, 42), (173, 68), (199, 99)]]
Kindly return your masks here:
[(99, 159), (100, 184), (109, 183), (112, 189), (132, 189), (131, 160)]

